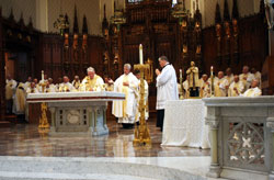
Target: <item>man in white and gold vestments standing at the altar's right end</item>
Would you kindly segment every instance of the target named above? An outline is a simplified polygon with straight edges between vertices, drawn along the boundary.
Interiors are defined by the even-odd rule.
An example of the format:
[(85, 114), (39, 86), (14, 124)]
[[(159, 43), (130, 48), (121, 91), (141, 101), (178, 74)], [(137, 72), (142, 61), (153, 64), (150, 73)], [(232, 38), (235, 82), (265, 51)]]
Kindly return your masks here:
[(132, 66), (124, 65), (124, 75), (114, 82), (114, 91), (126, 94), (125, 101), (113, 101), (112, 114), (118, 119), (124, 128), (132, 128), (136, 120), (138, 100), (138, 79), (130, 72)]

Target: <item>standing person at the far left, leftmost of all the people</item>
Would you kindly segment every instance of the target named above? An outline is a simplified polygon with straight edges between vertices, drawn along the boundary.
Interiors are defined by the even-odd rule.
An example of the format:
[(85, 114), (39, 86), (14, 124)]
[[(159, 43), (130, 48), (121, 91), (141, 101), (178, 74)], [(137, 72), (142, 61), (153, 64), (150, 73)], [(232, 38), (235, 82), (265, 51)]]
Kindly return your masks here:
[(13, 105), (13, 95), (16, 90), (18, 82), (11, 78), (10, 75), (7, 76), (5, 80), (5, 105), (7, 105), (7, 113), (12, 113), (12, 105)]

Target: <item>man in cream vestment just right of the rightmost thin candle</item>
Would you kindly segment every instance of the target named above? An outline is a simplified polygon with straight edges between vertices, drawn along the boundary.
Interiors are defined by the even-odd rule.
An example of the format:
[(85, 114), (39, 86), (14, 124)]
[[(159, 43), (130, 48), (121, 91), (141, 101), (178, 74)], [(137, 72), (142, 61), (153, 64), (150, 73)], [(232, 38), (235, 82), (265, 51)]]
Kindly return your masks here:
[(218, 77), (214, 79), (215, 97), (227, 97), (228, 81), (224, 77), (224, 72), (219, 71)]

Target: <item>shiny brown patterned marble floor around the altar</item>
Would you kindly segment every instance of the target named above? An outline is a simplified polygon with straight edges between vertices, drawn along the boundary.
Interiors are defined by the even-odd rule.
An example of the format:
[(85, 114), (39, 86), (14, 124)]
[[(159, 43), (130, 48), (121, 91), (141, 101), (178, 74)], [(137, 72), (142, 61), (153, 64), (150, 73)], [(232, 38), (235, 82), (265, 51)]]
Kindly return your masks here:
[(87, 133), (47, 134), (37, 125), (16, 124), (0, 130), (0, 156), (44, 157), (186, 157), (209, 156), (209, 149), (161, 147), (161, 132), (149, 122), (152, 147), (134, 147), (134, 130), (107, 122), (110, 134), (92, 137)]

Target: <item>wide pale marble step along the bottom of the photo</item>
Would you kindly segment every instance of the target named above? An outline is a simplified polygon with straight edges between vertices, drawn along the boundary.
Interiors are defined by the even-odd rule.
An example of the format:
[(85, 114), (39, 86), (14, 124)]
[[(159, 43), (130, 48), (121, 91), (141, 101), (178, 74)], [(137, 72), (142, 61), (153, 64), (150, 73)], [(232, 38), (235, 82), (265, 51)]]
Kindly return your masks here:
[(162, 159), (167, 160), (165, 158), (69, 158), (2, 156), (0, 157), (0, 180), (207, 179), (198, 173), (191, 173), (180, 169), (180, 165), (173, 165), (175, 168), (164, 167), (167, 164), (162, 164), (164, 162)]

